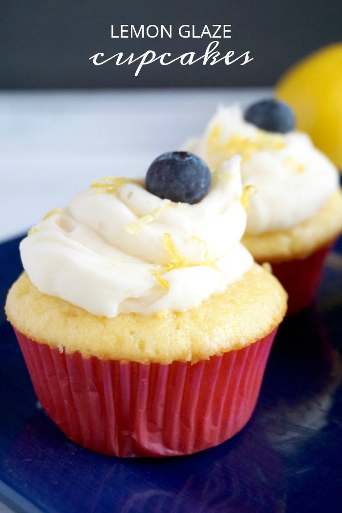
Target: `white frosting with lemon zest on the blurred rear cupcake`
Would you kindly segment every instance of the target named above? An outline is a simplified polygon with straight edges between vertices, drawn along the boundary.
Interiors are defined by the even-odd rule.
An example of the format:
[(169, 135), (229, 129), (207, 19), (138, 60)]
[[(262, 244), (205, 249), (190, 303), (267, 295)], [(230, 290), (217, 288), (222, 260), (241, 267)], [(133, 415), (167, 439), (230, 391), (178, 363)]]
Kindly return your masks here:
[[(213, 151), (210, 141), (217, 127), (219, 135), (214, 148), (221, 149)], [(219, 109), (203, 137), (187, 141), (183, 149), (198, 154), (211, 169), (216, 169), (232, 154), (242, 153), (237, 146), (236, 151), (227, 146), (224, 149), (236, 135), (250, 140), (250, 148), (266, 136), (265, 144), (256, 144), (250, 156), (245, 154), (241, 166), (243, 185), (252, 184), (257, 189), (250, 200), (248, 233), (292, 228), (314, 215), (337, 189), (337, 169), (313, 146), (308, 135), (297, 131), (287, 134), (260, 131), (244, 120), (238, 106)]]

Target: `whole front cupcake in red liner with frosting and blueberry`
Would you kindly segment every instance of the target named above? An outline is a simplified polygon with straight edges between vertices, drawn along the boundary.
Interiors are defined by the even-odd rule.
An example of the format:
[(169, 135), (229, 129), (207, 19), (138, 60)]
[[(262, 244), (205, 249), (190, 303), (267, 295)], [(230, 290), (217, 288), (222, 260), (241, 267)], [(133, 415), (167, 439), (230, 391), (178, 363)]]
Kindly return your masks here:
[(240, 158), (164, 154), (145, 182), (107, 177), (21, 243), (9, 291), (39, 401), (111, 456), (186, 455), (249, 420), (286, 292), (240, 243)]

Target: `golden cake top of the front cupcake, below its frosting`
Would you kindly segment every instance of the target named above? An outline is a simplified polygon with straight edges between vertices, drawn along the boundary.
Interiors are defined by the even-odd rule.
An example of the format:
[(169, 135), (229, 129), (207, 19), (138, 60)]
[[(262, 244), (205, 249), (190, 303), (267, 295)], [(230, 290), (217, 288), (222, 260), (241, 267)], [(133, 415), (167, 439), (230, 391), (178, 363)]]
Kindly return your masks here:
[(6, 313), (18, 331), (61, 352), (169, 364), (195, 363), (256, 342), (278, 326), (286, 307), (287, 294), (280, 283), (253, 264), (226, 290), (196, 308), (120, 313), (112, 318), (42, 294), (24, 272), (8, 294)]

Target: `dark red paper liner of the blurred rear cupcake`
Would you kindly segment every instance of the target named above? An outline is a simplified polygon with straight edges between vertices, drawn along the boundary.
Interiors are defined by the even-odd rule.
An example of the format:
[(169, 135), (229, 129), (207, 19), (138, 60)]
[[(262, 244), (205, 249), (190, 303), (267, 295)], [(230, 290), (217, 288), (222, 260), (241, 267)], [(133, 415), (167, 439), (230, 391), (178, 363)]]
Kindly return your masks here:
[(272, 264), (272, 272), (289, 294), (287, 315), (307, 308), (315, 299), (329, 244), (309, 257)]

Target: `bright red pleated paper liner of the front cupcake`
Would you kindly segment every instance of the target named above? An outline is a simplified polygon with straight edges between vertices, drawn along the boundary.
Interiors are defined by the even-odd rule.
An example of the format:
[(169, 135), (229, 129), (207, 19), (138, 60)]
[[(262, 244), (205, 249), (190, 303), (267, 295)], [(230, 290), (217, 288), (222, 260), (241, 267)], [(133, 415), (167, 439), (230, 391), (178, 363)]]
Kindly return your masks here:
[(276, 333), (194, 365), (66, 354), (15, 330), (39, 401), (75, 443), (109, 456), (177, 456), (229, 439), (250, 419)]

